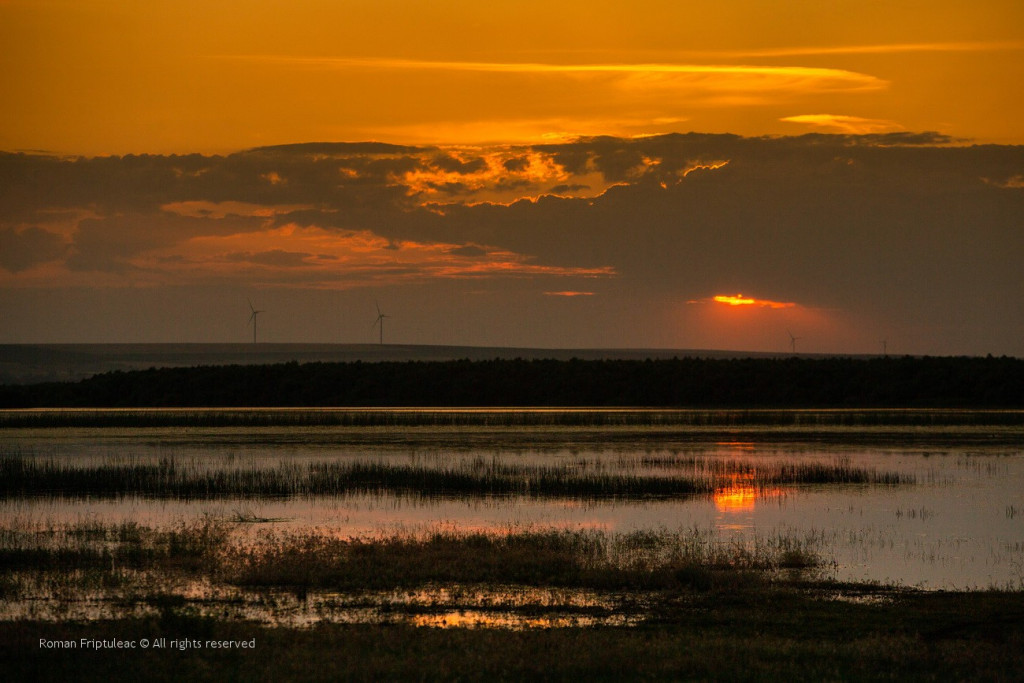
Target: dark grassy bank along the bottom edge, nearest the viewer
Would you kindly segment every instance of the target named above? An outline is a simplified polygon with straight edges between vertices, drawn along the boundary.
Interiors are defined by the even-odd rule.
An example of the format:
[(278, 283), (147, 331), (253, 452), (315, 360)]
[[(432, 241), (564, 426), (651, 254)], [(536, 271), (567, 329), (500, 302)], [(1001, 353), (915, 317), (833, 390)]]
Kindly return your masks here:
[[(168, 646), (155, 649), (161, 638)], [(86, 649), (82, 639), (135, 646)], [(172, 649), (180, 639), (200, 647)], [(254, 647), (214, 649), (210, 641)], [(667, 600), (658, 620), (636, 628), (521, 632), (296, 630), (167, 610), (146, 620), (2, 623), (0, 661), (12, 681), (1012, 681), (1024, 672), (1024, 594), (900, 594), (850, 604), (793, 590), (712, 593)]]

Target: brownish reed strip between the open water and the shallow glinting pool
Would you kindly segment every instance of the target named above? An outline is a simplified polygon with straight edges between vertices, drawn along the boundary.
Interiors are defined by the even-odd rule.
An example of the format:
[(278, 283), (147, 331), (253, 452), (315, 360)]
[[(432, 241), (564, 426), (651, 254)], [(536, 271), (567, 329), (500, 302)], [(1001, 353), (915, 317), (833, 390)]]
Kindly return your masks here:
[(61, 580), (85, 572), (96, 585), (123, 580), (123, 572), (132, 570), (248, 589), (358, 591), (428, 584), (710, 589), (726, 574), (821, 567), (825, 562), (816, 547), (815, 539), (786, 537), (723, 544), (698, 529), (510, 528), (373, 538), (312, 529), (240, 533), (237, 523), (205, 517), (173, 528), (134, 523), (7, 528), (0, 538), (0, 568), (8, 575), (49, 572)]

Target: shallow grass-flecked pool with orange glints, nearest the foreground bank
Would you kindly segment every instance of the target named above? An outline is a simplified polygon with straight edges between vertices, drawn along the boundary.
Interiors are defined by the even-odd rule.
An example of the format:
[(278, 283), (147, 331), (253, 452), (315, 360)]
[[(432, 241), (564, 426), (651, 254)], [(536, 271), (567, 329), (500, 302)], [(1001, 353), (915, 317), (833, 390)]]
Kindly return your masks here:
[[(31, 583), (31, 579), (27, 579)], [(159, 597), (154, 599), (154, 588)], [(146, 597), (140, 597), (146, 596)], [(409, 624), (430, 628), (522, 631), (591, 626), (635, 626), (647, 596), (522, 586), (428, 586), (415, 591), (244, 590), (201, 580), (140, 575), (120, 589), (26, 591), (0, 603), (0, 620), (92, 621), (160, 615), (187, 605), (196, 615), (291, 628), (317, 624)]]

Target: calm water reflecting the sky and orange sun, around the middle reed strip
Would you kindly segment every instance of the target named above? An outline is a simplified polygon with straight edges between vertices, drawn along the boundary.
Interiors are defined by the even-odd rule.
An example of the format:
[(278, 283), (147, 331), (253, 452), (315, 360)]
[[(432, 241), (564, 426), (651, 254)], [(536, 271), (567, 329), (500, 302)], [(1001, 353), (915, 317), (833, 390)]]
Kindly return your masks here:
[[(327, 432), (279, 430), (282, 437), (212, 438), (190, 432), (116, 438), (102, 432), (53, 430), (45, 438), (6, 438), (5, 454), (71, 462), (150, 462), (173, 457), (206, 467), (276, 466), (307, 460), (373, 460), (451, 466), (492, 459), (516, 464), (571, 463), (589, 471), (644, 475), (705, 475), (723, 462), (750, 464), (837, 461), (912, 474), (918, 483), (759, 488), (743, 474), (717, 480), (713, 496), (682, 501), (568, 501), (521, 498), (427, 500), (392, 495), (331, 499), (147, 501), (7, 500), (3, 525), (130, 519), (163, 525), (203, 514), (282, 518), (283, 528), (318, 527), (341, 536), (433, 528), (487, 530), (510, 526), (712, 529), (725, 543), (775, 536), (813, 540), (838, 563), (837, 578), (925, 588), (986, 588), (1024, 584), (1024, 452), (1007, 446), (872, 447), (862, 444), (644, 441), (602, 447), (593, 443), (515, 449), (333, 443)], [(58, 437), (57, 435), (65, 436)], [(304, 440), (304, 434), (309, 440)], [(475, 439), (474, 439), (475, 440)], [(269, 525), (269, 524), (268, 524)], [(259, 526), (259, 525), (256, 525)]]

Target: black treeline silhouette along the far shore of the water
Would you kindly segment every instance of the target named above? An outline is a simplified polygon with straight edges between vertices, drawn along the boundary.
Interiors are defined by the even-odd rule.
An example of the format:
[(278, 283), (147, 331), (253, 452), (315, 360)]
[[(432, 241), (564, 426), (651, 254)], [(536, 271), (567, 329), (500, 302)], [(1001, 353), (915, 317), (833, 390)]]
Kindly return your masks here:
[(1010, 357), (288, 362), (0, 386), (0, 408), (1024, 408)]

